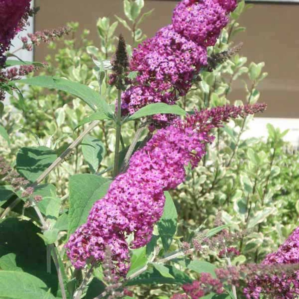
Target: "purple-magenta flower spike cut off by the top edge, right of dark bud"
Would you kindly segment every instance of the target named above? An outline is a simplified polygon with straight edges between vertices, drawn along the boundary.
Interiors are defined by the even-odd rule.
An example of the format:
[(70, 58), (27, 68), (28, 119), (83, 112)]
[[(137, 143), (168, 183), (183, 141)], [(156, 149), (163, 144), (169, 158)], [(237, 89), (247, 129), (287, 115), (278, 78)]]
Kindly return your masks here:
[[(137, 71), (137, 76), (135, 85), (122, 94), (123, 115), (150, 103), (174, 104), (184, 96), (207, 66), (207, 46), (215, 44), (236, 4), (234, 0), (181, 1), (173, 12), (172, 24), (134, 49), (130, 69)], [(165, 123), (168, 117), (158, 115), (154, 120)]]

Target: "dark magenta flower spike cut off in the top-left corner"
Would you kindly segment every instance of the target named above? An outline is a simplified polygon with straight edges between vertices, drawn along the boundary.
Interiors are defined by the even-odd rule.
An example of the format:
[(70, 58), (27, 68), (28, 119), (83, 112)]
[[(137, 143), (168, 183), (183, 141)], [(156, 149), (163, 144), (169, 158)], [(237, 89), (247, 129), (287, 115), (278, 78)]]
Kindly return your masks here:
[(0, 67), (4, 65), (4, 52), (10, 41), (26, 25), (30, 11), (30, 0), (0, 0)]

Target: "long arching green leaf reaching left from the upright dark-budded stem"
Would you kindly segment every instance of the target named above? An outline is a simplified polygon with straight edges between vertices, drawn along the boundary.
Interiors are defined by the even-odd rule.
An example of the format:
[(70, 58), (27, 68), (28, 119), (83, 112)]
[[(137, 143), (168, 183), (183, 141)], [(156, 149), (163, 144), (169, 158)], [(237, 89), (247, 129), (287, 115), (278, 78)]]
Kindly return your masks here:
[(107, 113), (107, 115), (111, 113), (110, 107), (103, 97), (101, 97), (97, 91), (84, 84), (52, 76), (36, 76), (18, 80), (18, 82), (65, 91), (69, 94), (79, 97), (94, 111), (101, 109), (103, 112)]

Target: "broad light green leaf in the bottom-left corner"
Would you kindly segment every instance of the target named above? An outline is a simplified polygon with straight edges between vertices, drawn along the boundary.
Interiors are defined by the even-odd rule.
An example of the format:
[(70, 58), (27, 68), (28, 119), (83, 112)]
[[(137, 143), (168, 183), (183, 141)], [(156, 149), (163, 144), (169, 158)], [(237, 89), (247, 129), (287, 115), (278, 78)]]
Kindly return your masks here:
[(0, 271), (0, 298), (55, 299), (47, 290), (47, 285), (33, 275), (20, 271)]

